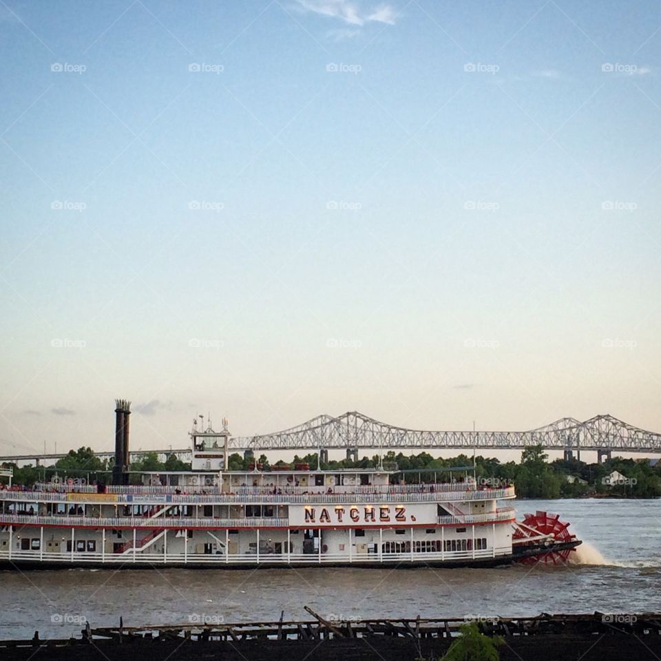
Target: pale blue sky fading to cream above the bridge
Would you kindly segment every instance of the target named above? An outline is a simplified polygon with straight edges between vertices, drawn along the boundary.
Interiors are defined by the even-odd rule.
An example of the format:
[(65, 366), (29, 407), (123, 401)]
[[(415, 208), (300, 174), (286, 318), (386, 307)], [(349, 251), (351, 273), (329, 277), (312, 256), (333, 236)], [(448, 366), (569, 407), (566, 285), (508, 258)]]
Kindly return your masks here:
[(661, 431), (660, 52), (651, 1), (0, 0), (0, 454), (117, 397)]

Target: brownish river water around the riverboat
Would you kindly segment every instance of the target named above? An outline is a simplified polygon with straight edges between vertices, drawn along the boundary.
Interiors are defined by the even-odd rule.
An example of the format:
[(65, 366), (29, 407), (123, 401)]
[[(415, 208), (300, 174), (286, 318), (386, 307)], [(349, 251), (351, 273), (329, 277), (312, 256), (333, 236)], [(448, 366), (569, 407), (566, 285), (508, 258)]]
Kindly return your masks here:
[[(584, 541), (569, 567), (0, 571), (0, 638), (92, 627), (308, 618), (661, 611), (661, 501), (518, 501)], [(580, 564), (583, 563), (583, 564)]]

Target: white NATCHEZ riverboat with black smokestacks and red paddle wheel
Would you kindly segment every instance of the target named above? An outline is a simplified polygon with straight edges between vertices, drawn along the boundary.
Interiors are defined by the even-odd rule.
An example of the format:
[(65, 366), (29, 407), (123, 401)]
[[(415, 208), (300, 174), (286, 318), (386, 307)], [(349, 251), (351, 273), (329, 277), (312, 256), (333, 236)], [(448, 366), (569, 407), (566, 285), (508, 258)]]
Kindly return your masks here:
[[(191, 432), (192, 470), (129, 484), (129, 402), (116, 402), (112, 485), (0, 488), (9, 567), (484, 567), (562, 564), (580, 544), (545, 512), (516, 521), (514, 485), (472, 467), (411, 483), (395, 466), (227, 470), (227, 421)], [(438, 475), (447, 475), (439, 479)]]

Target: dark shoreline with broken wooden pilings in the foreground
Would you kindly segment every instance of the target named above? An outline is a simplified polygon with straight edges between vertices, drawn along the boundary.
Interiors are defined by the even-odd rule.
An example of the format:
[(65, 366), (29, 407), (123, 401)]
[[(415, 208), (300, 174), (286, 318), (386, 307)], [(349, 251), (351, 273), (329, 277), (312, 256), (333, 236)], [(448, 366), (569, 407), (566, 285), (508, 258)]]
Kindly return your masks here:
[[(312, 612), (312, 611), (310, 611)], [(438, 620), (314, 620), (179, 627), (109, 627), (70, 640), (0, 640), (7, 661), (414, 661), (437, 659), (459, 626), (476, 622), (502, 636), (501, 661), (610, 661), (661, 658), (656, 613), (547, 615)]]

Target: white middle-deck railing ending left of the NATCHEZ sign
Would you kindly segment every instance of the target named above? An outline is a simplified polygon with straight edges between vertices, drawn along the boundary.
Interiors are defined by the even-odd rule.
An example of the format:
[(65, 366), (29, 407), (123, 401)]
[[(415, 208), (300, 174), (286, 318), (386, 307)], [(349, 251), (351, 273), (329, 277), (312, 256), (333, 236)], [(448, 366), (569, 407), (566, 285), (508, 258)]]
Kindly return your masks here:
[(92, 528), (280, 528), (289, 525), (288, 518), (191, 518), (167, 516), (38, 516), (30, 514), (0, 514), (0, 525), (49, 525)]

